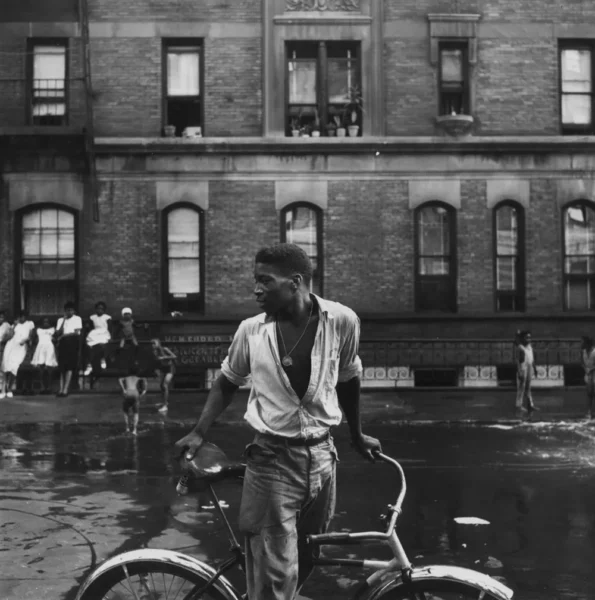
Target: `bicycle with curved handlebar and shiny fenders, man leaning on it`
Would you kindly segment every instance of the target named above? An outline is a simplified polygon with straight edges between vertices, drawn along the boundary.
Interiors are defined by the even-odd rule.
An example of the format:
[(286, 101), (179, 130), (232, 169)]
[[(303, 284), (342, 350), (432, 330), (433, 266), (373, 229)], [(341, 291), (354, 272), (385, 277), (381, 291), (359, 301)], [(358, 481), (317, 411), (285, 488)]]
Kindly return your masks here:
[[(354, 590), (353, 600), (511, 600), (513, 591), (496, 579), (463, 567), (428, 565), (414, 567), (397, 535), (397, 519), (407, 492), (405, 473), (393, 458), (377, 453), (376, 458), (391, 465), (399, 474), (400, 491), (394, 505), (384, 515), (385, 531), (357, 533), (331, 532), (311, 535), (313, 545), (342, 545), (384, 542), (393, 553), (391, 560), (351, 558), (316, 559), (317, 565), (371, 569)], [(192, 460), (185, 460), (192, 473), (195, 491), (208, 491), (231, 542), (231, 557), (218, 568), (191, 556), (170, 550), (142, 549), (125, 552), (106, 560), (83, 583), (75, 600), (243, 600), (224, 577), (233, 567), (244, 569), (244, 553), (229, 524), (213, 484), (229, 478), (242, 478), (243, 463), (231, 462), (214, 444), (204, 444)], [(178, 483), (188, 486), (189, 475)], [(192, 485), (195, 485), (192, 484)], [(188, 488), (186, 488), (188, 489)], [(183, 490), (182, 490), (183, 491)]]

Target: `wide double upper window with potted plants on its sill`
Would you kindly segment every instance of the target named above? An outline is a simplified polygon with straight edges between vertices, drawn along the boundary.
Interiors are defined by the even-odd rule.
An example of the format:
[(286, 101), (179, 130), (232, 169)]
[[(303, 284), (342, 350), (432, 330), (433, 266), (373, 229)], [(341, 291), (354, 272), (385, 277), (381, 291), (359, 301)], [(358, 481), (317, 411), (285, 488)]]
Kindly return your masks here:
[(287, 44), (287, 135), (300, 129), (332, 135), (349, 125), (362, 134), (359, 55), (356, 42)]

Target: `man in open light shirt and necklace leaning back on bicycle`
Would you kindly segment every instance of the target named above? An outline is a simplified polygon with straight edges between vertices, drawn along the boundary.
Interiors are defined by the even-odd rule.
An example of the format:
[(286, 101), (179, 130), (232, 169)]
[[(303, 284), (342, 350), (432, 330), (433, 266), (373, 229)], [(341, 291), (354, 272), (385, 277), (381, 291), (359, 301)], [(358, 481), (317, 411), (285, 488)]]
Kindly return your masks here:
[(306, 536), (326, 531), (335, 508), (337, 453), (330, 428), (347, 420), (367, 459), (380, 442), (361, 431), (357, 315), (310, 293), (312, 264), (294, 244), (255, 259), (264, 313), (240, 324), (196, 427), (176, 443), (194, 455), (239, 386), (252, 379), (245, 418), (255, 430), (239, 525), (251, 600), (293, 600), (312, 571)]

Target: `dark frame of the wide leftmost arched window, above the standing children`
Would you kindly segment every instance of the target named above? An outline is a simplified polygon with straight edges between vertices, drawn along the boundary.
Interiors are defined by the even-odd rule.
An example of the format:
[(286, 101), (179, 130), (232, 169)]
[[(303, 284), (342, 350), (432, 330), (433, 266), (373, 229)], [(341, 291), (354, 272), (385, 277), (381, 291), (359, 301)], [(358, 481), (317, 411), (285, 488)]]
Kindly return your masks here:
[(62, 313), (55, 314), (37, 314), (29, 311), (28, 303), (26, 302), (26, 298), (24, 297), (22, 291), (22, 263), (23, 263), (23, 217), (31, 212), (36, 212), (39, 210), (46, 209), (54, 209), (61, 210), (63, 212), (69, 213), (74, 217), (74, 279), (72, 283), (73, 294), (70, 300), (78, 306), (79, 301), (79, 293), (80, 293), (80, 218), (81, 213), (69, 206), (65, 206), (63, 204), (58, 204), (55, 202), (45, 202), (40, 204), (30, 204), (19, 209), (15, 214), (15, 236), (14, 236), (14, 271), (13, 271), (13, 280), (15, 282), (15, 294), (14, 294), (14, 309), (15, 314), (18, 314), (18, 311), (25, 308), (30, 314), (30, 316), (35, 317), (36, 319), (42, 319), (44, 317), (56, 317), (61, 315)]

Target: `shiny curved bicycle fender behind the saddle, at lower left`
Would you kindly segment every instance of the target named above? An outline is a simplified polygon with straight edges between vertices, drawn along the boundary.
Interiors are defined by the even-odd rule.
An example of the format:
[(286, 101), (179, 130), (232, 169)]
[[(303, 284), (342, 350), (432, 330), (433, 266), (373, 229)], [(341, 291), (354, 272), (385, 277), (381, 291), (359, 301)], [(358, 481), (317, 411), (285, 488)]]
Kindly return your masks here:
[[(173, 550), (159, 550), (157, 548), (143, 548), (141, 550), (131, 550), (130, 552), (124, 552), (118, 554), (113, 558), (110, 558), (103, 562), (97, 567), (85, 580), (83, 585), (80, 587), (75, 600), (80, 600), (84, 592), (91, 586), (99, 577), (104, 573), (113, 569), (114, 567), (120, 567), (122, 565), (152, 560), (161, 563), (167, 563), (171, 565), (178, 565), (194, 571), (206, 579), (210, 579), (216, 570), (192, 556), (182, 554), (180, 552), (174, 552)], [(231, 585), (231, 583), (223, 576), (219, 577), (214, 587), (218, 592), (223, 594), (228, 600), (241, 600), (241, 596), (238, 595), (237, 591)]]

